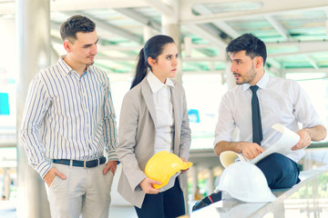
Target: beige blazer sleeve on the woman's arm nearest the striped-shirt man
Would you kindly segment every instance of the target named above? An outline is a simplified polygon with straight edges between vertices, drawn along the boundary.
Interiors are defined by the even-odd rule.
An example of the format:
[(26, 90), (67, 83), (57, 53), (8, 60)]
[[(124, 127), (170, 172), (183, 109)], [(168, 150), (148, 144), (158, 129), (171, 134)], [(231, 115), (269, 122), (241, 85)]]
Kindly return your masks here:
[(122, 163), (123, 172), (132, 190), (135, 190), (139, 183), (147, 175), (138, 166), (135, 154), (138, 131), (138, 98), (135, 93), (128, 92), (123, 99), (118, 127), (118, 161)]

